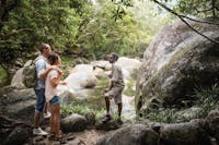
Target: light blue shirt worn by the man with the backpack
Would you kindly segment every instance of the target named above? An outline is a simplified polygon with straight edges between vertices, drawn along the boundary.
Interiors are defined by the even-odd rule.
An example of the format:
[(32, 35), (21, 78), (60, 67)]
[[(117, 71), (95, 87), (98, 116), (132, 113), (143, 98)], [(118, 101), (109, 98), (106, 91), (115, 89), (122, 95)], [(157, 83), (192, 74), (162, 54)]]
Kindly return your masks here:
[(36, 75), (37, 75), (37, 86), (36, 89), (45, 88), (45, 80), (41, 80), (39, 75), (47, 69), (48, 61), (44, 56), (38, 56), (36, 58), (35, 68), (36, 68)]

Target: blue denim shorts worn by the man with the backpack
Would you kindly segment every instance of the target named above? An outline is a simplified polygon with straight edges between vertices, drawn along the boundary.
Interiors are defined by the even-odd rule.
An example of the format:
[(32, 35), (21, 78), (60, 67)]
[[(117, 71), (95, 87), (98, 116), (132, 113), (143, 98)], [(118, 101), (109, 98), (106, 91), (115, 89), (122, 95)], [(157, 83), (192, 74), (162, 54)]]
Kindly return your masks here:
[(43, 112), (46, 102), (45, 88), (34, 89), (36, 94), (36, 112)]

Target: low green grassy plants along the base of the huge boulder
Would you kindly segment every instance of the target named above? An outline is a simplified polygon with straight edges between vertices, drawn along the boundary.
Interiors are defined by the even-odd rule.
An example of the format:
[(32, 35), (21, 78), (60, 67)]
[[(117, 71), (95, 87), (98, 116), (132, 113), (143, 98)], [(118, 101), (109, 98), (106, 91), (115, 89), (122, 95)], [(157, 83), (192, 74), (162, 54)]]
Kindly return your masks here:
[(219, 108), (219, 87), (217, 85), (212, 85), (211, 88), (196, 89), (193, 97), (197, 98), (195, 107), (198, 109), (194, 111), (194, 117), (192, 118), (182, 114), (186, 112), (186, 109), (176, 108), (160, 108), (143, 116), (157, 122), (187, 122), (191, 119), (206, 118), (211, 110)]

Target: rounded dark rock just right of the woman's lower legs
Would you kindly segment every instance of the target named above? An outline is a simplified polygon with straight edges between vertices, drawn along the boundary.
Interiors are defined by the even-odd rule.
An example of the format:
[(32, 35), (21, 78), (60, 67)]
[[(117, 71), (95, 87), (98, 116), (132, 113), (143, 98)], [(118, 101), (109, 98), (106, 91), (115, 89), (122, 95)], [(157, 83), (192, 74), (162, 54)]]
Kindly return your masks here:
[(87, 119), (77, 113), (72, 113), (61, 120), (61, 131), (64, 132), (83, 131), (87, 126)]

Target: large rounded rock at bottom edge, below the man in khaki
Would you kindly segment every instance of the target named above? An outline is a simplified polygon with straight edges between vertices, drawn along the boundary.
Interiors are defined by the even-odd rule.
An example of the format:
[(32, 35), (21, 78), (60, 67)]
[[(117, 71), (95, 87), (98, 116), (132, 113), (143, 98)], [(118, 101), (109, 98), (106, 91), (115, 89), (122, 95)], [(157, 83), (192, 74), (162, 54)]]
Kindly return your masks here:
[(157, 145), (159, 134), (143, 124), (124, 126), (108, 132), (96, 145)]

